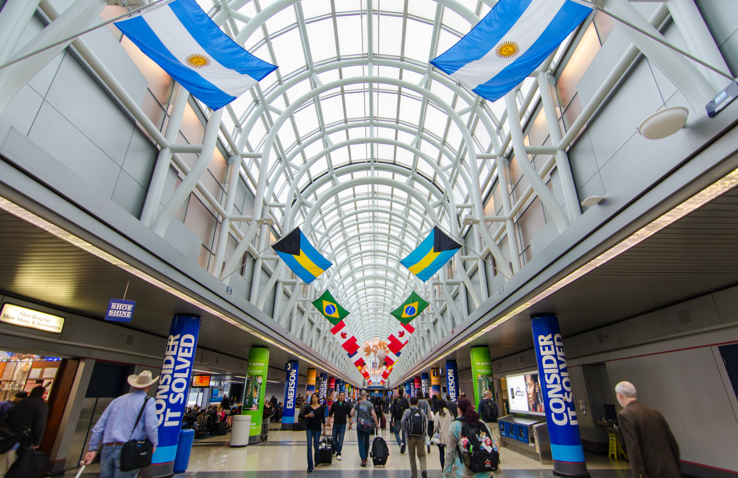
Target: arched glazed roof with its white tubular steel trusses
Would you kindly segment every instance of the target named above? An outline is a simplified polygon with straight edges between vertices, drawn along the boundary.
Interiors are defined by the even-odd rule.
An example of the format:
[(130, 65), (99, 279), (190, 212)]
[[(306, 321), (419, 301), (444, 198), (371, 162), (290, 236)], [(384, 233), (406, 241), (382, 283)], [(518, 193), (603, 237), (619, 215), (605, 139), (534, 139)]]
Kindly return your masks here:
[[(20, 36), (18, 29), (3, 30), (3, 26), (27, 22), (35, 8), (28, 7), (31, 3), (8, 0), (0, 13), (0, 31), (7, 32), (0, 37), (5, 42), (0, 44), (0, 60), (11, 58), (10, 51)], [(244, 260), (250, 260), (246, 266), (252, 269), (248, 299), (263, 308), (269, 297), (275, 297), (273, 319), (352, 376), (358, 374), (328, 331), (328, 322), (308, 304), (321, 291), (329, 288), (351, 311), (346, 322), (359, 343), (375, 336), (384, 339), (396, 327), (396, 319), (388, 313), (410, 291), (428, 299), (431, 306), (415, 319), (418, 333), (413, 334), (397, 366), (397, 375), (401, 375), (466, 318), (468, 301), (478, 307), (488, 298), (486, 274), (509, 278), (520, 270), (517, 240), (506, 241), (505, 253), (500, 243), (506, 235), (517, 237), (516, 221), (526, 201), (537, 195), (559, 232), (581, 215), (568, 146), (640, 52), (656, 58), (672, 83), (685, 97), (694, 99), (690, 101), (714, 94), (714, 86), (691, 63), (689, 68), (694, 72), (675, 78), (674, 72), (683, 69), (683, 58), (629, 31), (633, 45), (562, 134), (550, 80), (573, 35), (556, 55), (495, 103), (480, 99), (428, 63), (469, 32), (495, 0), (199, 3), (238, 44), (279, 66), (232, 104), (210, 111), (202, 145), (174, 144), (187, 91), (176, 86), (168, 128), (162, 133), (85, 41), (77, 38), (73, 42), (159, 145), (141, 221), (163, 236), (182, 201), (197, 189), (221, 221), (212, 273), (228, 283), (231, 274), (244, 268)], [(8, 5), (15, 7), (9, 9)], [(714, 41), (703, 38), (707, 30), (702, 18), (692, 15), (696, 10), (692, 0), (670, 0), (648, 20), (627, 0), (605, 0), (604, 5), (656, 35), (660, 35), (657, 28), (664, 19), (674, 14), (690, 52), (728, 70), (724, 62), (720, 64), (722, 56)], [(49, 1), (41, 1), (40, 7), (52, 20), (62, 19)], [(54, 38), (80, 30), (80, 24), (96, 17), (100, 8), (102, 4), (89, 7), (78, 0), (70, 7), (80, 10), (72, 27), (65, 30), (57, 21), (49, 26), (58, 24), (52, 31)], [(63, 15), (72, 16), (75, 10), (70, 9)], [(10, 94), (4, 95), (4, 105), (17, 91), (19, 80), (22, 86), (43, 62), (44, 58), (38, 58), (34, 64), (21, 62), (0, 70), (0, 91)], [(714, 84), (720, 82), (714, 75), (708, 77)], [(551, 146), (528, 146), (523, 141), (522, 128), (539, 103), (549, 125)], [(4, 105), (0, 105), (0, 112)], [(213, 151), (218, 138), (231, 155), (224, 203), (213, 198), (200, 182), (210, 163), (208, 152)], [(204, 154), (191, 168), (179, 157), (179, 153), (201, 151)], [(502, 184), (509, 184), (508, 159), (512, 155), (548, 159), (536, 165), (518, 162), (530, 184), (528, 189), (514, 202), (503, 194), (503, 209), (490, 215), (484, 210), (484, 200), (498, 176)], [(186, 178), (159, 211), (156, 206), (170, 162)], [(565, 207), (544, 181), (554, 167), (559, 172)], [(255, 206), (243, 215), (235, 214), (233, 207), (239, 179), (255, 196)], [(435, 224), (465, 246), (435, 277), (422, 283), (399, 260), (418, 246)], [(281, 261), (270, 266), (278, 257), (269, 243), (298, 225), (334, 263), (311, 285), (301, 284)], [(227, 253), (229, 235), (225, 232), (238, 243), (235, 252)], [(509, 262), (506, 257), (510, 257)], [(268, 274), (269, 280), (260, 290), (262, 274)], [(286, 304), (283, 295), (289, 297)]]

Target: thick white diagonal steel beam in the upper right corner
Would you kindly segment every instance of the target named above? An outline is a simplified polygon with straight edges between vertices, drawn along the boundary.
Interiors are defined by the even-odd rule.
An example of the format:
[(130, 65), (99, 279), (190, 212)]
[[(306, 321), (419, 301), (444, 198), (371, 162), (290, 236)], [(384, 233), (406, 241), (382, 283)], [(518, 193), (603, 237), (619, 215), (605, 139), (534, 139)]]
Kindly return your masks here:
[[(605, 0), (604, 6), (606, 10), (630, 21), (641, 30), (663, 38), (661, 32), (649, 24), (646, 18), (630, 4), (630, 1)], [(632, 41), (632, 44), (637, 46), (646, 58), (681, 91), (694, 111), (705, 111), (706, 103), (715, 96), (716, 90), (686, 57), (617, 20), (615, 24)]]

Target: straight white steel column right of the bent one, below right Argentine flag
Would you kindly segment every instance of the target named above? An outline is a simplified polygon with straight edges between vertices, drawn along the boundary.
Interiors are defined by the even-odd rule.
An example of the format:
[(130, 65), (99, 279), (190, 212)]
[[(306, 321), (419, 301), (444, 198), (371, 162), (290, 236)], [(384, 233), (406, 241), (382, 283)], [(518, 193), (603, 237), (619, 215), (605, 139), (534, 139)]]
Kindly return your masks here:
[[(541, 92), (541, 103), (543, 103), (543, 112), (546, 123), (548, 123), (548, 134), (551, 135), (551, 144), (558, 145), (562, 139), (561, 127), (559, 127), (559, 118), (556, 117), (556, 108), (554, 107), (554, 99), (551, 97), (551, 83), (548, 76), (545, 71), (538, 72), (538, 91)], [(559, 171), (569, 221), (574, 222), (582, 215), (582, 209), (579, 207), (579, 197), (576, 195), (576, 184), (574, 184), (569, 155), (566, 150), (556, 150), (556, 170)]]

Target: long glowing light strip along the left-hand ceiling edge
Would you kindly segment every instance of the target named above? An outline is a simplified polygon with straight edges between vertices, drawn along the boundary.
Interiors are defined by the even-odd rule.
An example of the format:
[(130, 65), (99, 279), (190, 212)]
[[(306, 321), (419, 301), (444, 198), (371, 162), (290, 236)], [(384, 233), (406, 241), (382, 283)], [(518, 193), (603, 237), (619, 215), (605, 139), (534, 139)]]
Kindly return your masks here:
[[(86, 240), (77, 238), (77, 236), (73, 235), (71, 232), (67, 232), (64, 229), (61, 229), (61, 227), (56, 226), (55, 224), (52, 224), (49, 221), (46, 221), (44, 218), (40, 218), (38, 215), (35, 215), (32, 212), (28, 211), (27, 209), (24, 209), (18, 206), (18, 204), (13, 203), (12, 201), (8, 201), (6, 198), (0, 197), (0, 209), (4, 209), (5, 211), (10, 212), (10, 214), (15, 215), (18, 218), (21, 218), (22, 220), (30, 224), (33, 224), (34, 226), (37, 226), (40, 229), (44, 229), (44, 231), (49, 232), (49, 234), (55, 235), (57, 238), (60, 238), (61, 240), (65, 240), (66, 242), (72, 244), (72, 246), (76, 246), (79, 249), (82, 249), (83, 251), (89, 252), (90, 254), (93, 254), (94, 256), (100, 257), (100, 259), (105, 260), (108, 263), (111, 263), (113, 266), (117, 266), (120, 269), (123, 269), (124, 271), (128, 272), (129, 274), (133, 274), (139, 279), (145, 280), (151, 285), (155, 285), (156, 287), (162, 289), (162, 291), (172, 294), (174, 297), (178, 297), (179, 299), (182, 299), (185, 302), (189, 302), (190, 304), (201, 309), (202, 311), (207, 312), (208, 314), (213, 314), (219, 319), (222, 319), (225, 322), (228, 322), (229, 324), (234, 325), (235, 327), (240, 328), (241, 330), (244, 330), (245, 332), (248, 332), (252, 334), (253, 336), (258, 337), (259, 339), (262, 339), (264, 342), (272, 344), (275, 347), (278, 347), (287, 353), (297, 356), (298, 359), (302, 359), (308, 362), (308, 364), (313, 365), (314, 367), (323, 368), (322, 365), (316, 364), (314, 361), (311, 361), (305, 356), (301, 356), (299, 353), (295, 353), (294, 350), (289, 350), (287, 347), (284, 347), (283, 345), (278, 344), (274, 340), (269, 339), (269, 337), (263, 336), (261, 333), (258, 333), (255, 330), (252, 330), (251, 328), (246, 327), (246, 325), (241, 324), (241, 322), (238, 322), (227, 315), (221, 314), (221, 312), (218, 312), (214, 308), (211, 308), (210, 306), (205, 305), (202, 302), (199, 302), (199, 300), (193, 299), (187, 294), (183, 294), (182, 292), (176, 290), (176, 288), (173, 288), (170, 285), (162, 283), (162, 281), (154, 277), (151, 277), (145, 272), (139, 271), (139, 269), (136, 269), (134, 266), (131, 266), (130, 264), (123, 262), (123, 260), (120, 260), (117, 257), (114, 257), (111, 254), (108, 254), (102, 249), (97, 248), (97, 246), (93, 246), (91, 243), (88, 243)], [(209, 373), (213, 373), (213, 372), (209, 372)]]

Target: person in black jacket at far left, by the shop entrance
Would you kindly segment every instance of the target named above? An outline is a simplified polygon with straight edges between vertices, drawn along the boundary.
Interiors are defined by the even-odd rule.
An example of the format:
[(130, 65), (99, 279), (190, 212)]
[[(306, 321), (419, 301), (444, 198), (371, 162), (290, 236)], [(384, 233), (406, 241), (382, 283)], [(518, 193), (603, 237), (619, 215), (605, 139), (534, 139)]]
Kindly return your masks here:
[(0, 477), (4, 477), (18, 459), (18, 452), (27, 448), (38, 448), (46, 432), (46, 417), (49, 415), (49, 404), (44, 401), (44, 386), (34, 387), (28, 398), (15, 403), (5, 416), (5, 423), (18, 433), (30, 430), (30, 434), (21, 440), (18, 450), (10, 450), (0, 455)]

